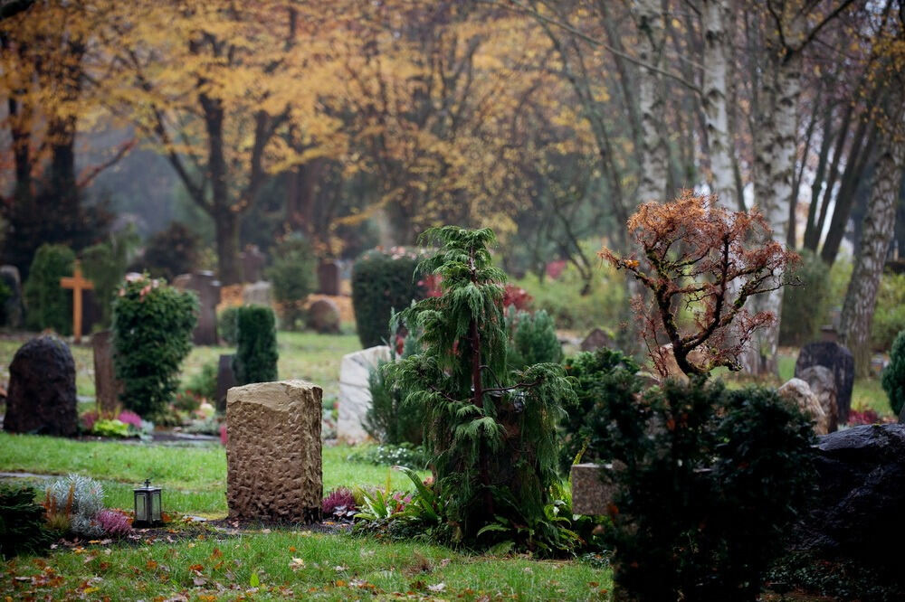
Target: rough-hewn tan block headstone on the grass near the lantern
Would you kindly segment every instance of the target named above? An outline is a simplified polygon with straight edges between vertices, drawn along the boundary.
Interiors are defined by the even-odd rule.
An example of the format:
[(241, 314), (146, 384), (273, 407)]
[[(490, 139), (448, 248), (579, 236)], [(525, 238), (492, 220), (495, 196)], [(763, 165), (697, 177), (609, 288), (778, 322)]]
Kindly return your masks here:
[(257, 382), (226, 401), (226, 501), (231, 518), (320, 519), (323, 391), (306, 381)]

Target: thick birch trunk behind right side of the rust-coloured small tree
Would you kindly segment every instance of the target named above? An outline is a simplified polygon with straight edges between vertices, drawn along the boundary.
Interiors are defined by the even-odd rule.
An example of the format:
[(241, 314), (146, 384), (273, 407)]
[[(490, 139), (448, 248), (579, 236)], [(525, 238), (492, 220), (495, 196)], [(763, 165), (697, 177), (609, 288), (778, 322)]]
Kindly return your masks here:
[[(791, 25), (796, 38), (804, 30), (801, 15)], [(796, 34), (797, 33), (797, 34)], [(761, 89), (757, 115), (754, 158), (755, 203), (767, 218), (773, 239), (786, 244), (788, 207), (792, 200), (795, 175), (795, 127), (798, 123), (798, 99), (801, 96), (801, 52), (784, 48), (776, 33), (767, 33), (767, 72)], [(785, 52), (783, 52), (785, 51)], [(745, 372), (776, 373), (779, 346), (779, 315), (783, 303), (782, 288), (754, 297), (752, 311), (767, 311), (776, 316), (773, 325), (757, 331), (742, 357)]]

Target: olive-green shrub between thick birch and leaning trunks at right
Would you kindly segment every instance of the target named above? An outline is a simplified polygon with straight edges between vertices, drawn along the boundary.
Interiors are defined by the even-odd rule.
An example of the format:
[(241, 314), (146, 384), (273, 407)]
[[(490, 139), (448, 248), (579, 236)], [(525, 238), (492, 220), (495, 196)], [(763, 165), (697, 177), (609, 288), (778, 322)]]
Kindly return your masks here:
[(826, 323), (830, 294), (830, 268), (804, 249), (801, 263), (795, 268), (797, 286), (783, 289), (782, 319), (779, 322), (779, 342), (801, 345), (814, 341), (820, 327)]

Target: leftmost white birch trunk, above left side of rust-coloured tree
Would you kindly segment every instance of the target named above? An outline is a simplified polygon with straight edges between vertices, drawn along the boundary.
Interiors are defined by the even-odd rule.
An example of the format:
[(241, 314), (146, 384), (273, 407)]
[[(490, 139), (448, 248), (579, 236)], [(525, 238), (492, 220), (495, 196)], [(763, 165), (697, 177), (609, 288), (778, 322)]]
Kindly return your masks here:
[[(665, 35), (660, 0), (635, 0), (633, 17), (638, 30), (638, 58), (656, 69), (662, 69)], [(641, 67), (638, 79), (638, 109), (641, 113), (641, 173), (638, 201), (666, 200), (669, 157), (661, 136), (664, 107), (663, 87), (657, 71)]]

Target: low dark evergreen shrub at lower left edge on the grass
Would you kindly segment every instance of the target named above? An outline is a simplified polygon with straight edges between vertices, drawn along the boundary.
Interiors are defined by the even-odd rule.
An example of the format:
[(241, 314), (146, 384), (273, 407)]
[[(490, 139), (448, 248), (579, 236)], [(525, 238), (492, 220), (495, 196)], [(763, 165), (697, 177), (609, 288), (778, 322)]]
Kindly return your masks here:
[(40, 552), (50, 540), (44, 529), (44, 509), (34, 503), (34, 490), (25, 485), (0, 484), (0, 557)]

